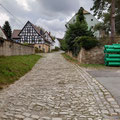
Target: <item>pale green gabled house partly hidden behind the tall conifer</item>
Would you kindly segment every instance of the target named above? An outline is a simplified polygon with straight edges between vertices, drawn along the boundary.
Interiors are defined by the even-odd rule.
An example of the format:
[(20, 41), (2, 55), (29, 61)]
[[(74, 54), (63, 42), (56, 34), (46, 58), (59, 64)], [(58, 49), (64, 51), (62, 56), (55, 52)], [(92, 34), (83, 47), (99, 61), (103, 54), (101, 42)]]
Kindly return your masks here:
[[(100, 22), (88, 11), (84, 10), (83, 13), (84, 13), (85, 20), (88, 24), (88, 29), (89, 30), (91, 29), (94, 32), (95, 37), (100, 38), (101, 37), (100, 31), (94, 31), (93, 29), (95, 25)], [(67, 24), (65, 25), (66, 28), (69, 27), (69, 24), (74, 24), (76, 22), (76, 18), (77, 18), (77, 13), (67, 22)]]

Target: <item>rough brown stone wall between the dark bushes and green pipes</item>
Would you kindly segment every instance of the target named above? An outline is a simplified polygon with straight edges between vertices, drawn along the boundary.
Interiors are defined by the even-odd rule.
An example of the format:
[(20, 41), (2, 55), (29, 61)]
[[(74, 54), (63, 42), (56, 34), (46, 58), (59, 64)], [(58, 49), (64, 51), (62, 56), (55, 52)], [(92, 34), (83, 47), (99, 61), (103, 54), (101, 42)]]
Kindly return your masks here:
[[(71, 52), (68, 52), (67, 54), (73, 57)], [(88, 51), (82, 48), (75, 59), (82, 64), (104, 64), (104, 48), (95, 47)]]

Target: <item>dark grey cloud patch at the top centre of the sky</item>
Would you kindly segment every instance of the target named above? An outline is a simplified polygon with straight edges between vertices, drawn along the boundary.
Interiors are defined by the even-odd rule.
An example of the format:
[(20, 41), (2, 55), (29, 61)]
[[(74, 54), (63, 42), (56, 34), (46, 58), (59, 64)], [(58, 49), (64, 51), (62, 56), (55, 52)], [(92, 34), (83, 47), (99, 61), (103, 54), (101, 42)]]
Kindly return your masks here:
[(79, 0), (38, 0), (49, 12), (70, 14), (79, 8)]

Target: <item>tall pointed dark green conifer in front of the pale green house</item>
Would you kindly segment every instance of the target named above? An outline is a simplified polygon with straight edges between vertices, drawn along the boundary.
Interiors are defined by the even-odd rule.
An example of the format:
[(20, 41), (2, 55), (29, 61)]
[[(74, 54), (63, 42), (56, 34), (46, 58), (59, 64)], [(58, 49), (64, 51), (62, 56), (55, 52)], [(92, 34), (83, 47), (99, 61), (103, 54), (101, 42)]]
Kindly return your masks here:
[(79, 9), (76, 22), (69, 25), (64, 37), (68, 51), (72, 51), (73, 54), (76, 52), (77, 47), (75, 44), (75, 38), (81, 36), (93, 37), (93, 32), (88, 30), (88, 26), (83, 15), (83, 10), (84, 9), (82, 7)]

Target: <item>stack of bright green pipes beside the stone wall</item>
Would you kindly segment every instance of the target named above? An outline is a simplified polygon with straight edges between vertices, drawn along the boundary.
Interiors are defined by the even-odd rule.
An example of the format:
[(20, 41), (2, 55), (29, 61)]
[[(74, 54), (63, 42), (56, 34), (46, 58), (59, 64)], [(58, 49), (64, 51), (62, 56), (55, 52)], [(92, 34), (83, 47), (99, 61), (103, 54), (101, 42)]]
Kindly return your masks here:
[(120, 66), (120, 44), (105, 45), (105, 65)]

